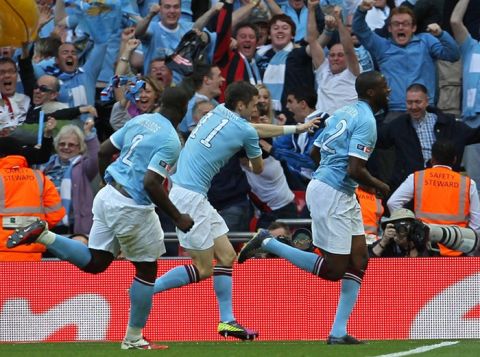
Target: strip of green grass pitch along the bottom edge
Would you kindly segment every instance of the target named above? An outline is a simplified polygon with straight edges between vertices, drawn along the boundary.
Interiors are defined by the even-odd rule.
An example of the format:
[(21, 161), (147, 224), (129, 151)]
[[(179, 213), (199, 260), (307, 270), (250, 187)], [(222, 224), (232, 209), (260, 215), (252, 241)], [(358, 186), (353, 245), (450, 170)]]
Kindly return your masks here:
[[(166, 342), (167, 350), (122, 351), (120, 343), (0, 343), (0, 356), (118, 356), (127, 354), (148, 354), (186, 357), (225, 356), (225, 357), (356, 357), (356, 356), (480, 356), (480, 340), (458, 341), (455, 345), (439, 347), (430, 351), (415, 353), (414, 349), (438, 345), (446, 341), (406, 340), (369, 341), (357, 346), (327, 346), (324, 341), (290, 342)], [(408, 353), (410, 352), (410, 353)], [(405, 354), (408, 353), (408, 354)]]

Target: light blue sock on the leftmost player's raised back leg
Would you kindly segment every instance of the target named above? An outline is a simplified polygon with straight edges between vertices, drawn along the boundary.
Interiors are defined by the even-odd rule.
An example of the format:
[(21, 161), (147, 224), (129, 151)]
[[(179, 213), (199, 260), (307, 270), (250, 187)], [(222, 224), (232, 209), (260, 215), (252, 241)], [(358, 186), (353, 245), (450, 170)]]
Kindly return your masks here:
[[(49, 232), (54, 234), (52, 232)], [(44, 238), (45, 236), (42, 236)], [(43, 243), (39, 241), (39, 243)], [(45, 243), (44, 243), (45, 244)], [(76, 240), (62, 237), (55, 234), (55, 239), (47, 244), (50, 253), (61, 260), (69, 261), (79, 268), (85, 267), (92, 259), (92, 254), (88, 247)]]

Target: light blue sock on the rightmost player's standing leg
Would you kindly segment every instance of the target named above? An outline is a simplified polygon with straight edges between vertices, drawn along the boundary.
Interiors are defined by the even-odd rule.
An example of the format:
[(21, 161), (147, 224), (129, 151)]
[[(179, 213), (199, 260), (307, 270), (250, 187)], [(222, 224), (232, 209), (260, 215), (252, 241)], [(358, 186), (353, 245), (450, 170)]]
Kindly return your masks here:
[(343, 337), (347, 334), (347, 323), (357, 302), (364, 271), (348, 269), (342, 279), (340, 299), (330, 335)]

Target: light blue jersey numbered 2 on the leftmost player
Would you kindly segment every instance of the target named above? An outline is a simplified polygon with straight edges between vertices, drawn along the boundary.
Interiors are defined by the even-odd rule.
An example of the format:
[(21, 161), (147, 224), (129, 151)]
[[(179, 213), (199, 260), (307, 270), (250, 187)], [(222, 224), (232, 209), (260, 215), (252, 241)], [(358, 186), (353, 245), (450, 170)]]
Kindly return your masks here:
[(142, 114), (113, 133), (110, 141), (120, 155), (108, 166), (105, 181), (111, 182), (113, 178), (135, 202), (151, 204), (143, 178), (147, 169), (166, 176), (167, 168), (177, 161), (181, 144), (175, 128), (161, 114)]

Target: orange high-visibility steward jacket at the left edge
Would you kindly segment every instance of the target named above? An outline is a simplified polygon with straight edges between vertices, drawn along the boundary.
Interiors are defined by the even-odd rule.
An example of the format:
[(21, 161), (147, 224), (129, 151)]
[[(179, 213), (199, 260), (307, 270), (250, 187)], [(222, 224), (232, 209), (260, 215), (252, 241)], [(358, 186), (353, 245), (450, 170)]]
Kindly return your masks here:
[(9, 249), (15, 228), (37, 218), (55, 226), (65, 215), (55, 185), (41, 171), (30, 169), (23, 156), (0, 158), (0, 261), (38, 261), (45, 246), (34, 243)]

